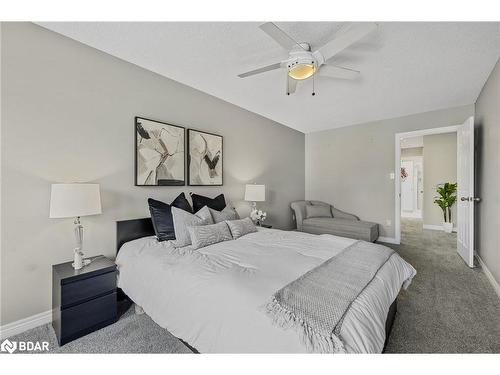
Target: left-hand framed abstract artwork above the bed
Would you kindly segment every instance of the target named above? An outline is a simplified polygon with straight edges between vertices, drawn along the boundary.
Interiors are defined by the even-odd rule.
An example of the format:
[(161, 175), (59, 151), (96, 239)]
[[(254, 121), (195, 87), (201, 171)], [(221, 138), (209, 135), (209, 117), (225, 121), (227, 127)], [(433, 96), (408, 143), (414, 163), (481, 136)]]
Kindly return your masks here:
[(135, 118), (135, 185), (184, 186), (185, 137), (182, 126)]

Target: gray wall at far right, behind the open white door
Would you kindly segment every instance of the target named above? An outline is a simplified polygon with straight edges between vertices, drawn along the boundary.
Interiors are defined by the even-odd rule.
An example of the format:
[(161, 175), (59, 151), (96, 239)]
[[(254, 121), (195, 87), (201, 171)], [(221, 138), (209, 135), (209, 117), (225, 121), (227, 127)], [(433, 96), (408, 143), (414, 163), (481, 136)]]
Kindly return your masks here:
[(500, 284), (500, 62), (476, 102), (476, 249)]

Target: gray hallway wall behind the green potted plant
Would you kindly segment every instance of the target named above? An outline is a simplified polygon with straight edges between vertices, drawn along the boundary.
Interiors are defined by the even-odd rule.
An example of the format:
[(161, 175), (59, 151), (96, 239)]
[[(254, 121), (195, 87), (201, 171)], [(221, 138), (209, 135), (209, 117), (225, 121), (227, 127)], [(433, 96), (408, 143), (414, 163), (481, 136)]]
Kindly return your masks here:
[[(457, 133), (424, 136), (424, 225), (443, 223), (443, 211), (434, 203), (436, 187), (444, 182), (457, 182)], [(456, 226), (457, 205), (451, 209)]]

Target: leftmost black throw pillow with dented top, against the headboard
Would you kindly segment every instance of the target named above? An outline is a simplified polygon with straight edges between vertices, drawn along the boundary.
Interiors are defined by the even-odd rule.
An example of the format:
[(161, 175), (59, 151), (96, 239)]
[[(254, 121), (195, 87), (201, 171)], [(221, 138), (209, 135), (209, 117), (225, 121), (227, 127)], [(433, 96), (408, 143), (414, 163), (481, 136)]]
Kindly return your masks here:
[(184, 193), (181, 193), (171, 204), (156, 199), (148, 199), (151, 221), (158, 241), (175, 240), (174, 222), (172, 220), (172, 207), (180, 208), (187, 212), (193, 212), (191, 205)]

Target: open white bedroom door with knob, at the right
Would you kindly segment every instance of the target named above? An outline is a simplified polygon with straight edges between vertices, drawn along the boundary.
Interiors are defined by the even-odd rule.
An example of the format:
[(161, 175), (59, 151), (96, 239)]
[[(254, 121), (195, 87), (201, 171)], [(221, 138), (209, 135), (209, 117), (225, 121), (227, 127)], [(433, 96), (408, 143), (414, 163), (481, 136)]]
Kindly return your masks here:
[(474, 267), (474, 118), (457, 133), (457, 251)]

